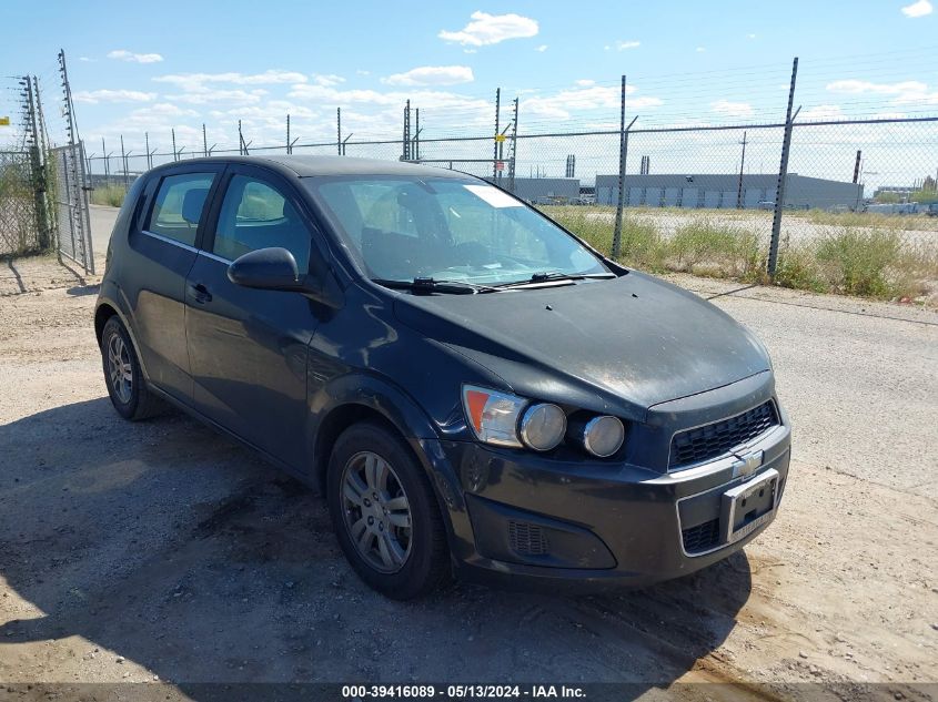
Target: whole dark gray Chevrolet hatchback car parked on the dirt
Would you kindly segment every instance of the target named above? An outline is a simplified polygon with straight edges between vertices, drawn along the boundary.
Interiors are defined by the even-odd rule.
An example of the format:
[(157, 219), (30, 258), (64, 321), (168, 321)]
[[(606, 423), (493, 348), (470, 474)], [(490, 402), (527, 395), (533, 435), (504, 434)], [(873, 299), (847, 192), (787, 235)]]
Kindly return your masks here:
[(154, 169), (94, 327), (123, 417), (170, 403), (321, 489), (394, 598), (454, 571), (674, 578), (743, 548), (785, 489), (789, 426), (750, 333), (452, 171)]

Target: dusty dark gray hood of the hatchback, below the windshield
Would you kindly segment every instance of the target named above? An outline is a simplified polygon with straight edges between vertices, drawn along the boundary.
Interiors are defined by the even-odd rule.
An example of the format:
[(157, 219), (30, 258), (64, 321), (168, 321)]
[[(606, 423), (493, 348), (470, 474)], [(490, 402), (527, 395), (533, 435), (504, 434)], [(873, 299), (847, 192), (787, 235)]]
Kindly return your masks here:
[(729, 315), (634, 271), (483, 295), (402, 294), (394, 308), (521, 395), (633, 418), (769, 368), (762, 344)]

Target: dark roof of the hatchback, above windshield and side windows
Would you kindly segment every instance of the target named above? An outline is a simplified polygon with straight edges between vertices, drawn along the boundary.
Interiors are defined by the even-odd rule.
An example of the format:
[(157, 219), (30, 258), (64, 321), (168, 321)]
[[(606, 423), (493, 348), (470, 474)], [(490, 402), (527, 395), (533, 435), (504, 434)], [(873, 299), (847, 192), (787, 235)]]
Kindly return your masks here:
[(350, 156), (314, 156), (309, 154), (263, 154), (256, 156), (209, 156), (186, 159), (165, 164), (162, 167), (196, 163), (245, 163), (274, 166), (279, 171), (290, 171), (293, 175), (307, 177), (314, 175), (402, 175), (409, 177), (452, 177), (470, 180), (473, 176), (458, 171), (407, 163), (382, 161), (380, 159), (354, 159)]

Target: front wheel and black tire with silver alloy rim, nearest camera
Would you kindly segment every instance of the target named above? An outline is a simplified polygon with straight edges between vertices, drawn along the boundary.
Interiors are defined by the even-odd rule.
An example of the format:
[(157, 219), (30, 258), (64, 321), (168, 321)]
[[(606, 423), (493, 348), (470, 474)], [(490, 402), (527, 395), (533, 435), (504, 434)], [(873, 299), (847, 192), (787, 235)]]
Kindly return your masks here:
[(407, 445), (384, 427), (346, 429), (329, 461), (327, 499), (345, 558), (395, 600), (423, 597), (450, 577), (446, 531), (433, 488)]

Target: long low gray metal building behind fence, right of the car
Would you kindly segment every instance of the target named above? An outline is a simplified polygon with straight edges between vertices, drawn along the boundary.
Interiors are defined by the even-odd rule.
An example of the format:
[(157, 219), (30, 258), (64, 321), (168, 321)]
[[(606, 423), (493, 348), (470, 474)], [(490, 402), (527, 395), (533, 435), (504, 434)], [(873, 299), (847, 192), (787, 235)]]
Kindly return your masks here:
[[(716, 210), (767, 208), (775, 203), (778, 176), (771, 173), (628, 174), (625, 176), (627, 206), (707, 207)], [(596, 176), (596, 203), (615, 205), (618, 175)], [(798, 210), (855, 210), (861, 204), (863, 185), (789, 173), (785, 206)]]

